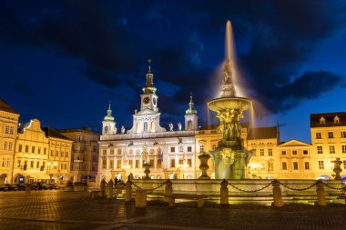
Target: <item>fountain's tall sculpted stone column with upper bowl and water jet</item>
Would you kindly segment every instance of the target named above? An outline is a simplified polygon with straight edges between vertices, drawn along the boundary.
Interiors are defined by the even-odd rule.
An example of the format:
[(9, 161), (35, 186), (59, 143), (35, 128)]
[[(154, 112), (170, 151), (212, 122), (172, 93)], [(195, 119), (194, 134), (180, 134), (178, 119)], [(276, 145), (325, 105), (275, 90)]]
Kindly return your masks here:
[(238, 97), (233, 84), (234, 66), (230, 51), (230, 22), (226, 26), (226, 60), (223, 65), (223, 78), (220, 97), (208, 102), (210, 110), (219, 118), (219, 146), (210, 152), (214, 156), (216, 179), (245, 179), (245, 166), (250, 154), (243, 147), (240, 133), (240, 119), (243, 112), (252, 107), (251, 100)]

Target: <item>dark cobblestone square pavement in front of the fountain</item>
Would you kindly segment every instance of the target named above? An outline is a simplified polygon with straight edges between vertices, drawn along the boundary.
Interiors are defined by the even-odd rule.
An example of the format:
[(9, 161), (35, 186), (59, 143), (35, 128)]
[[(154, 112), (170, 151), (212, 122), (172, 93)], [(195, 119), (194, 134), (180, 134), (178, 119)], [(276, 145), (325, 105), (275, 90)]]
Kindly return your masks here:
[(220, 206), (206, 202), (145, 209), (86, 192), (0, 192), (0, 229), (346, 229), (346, 205)]

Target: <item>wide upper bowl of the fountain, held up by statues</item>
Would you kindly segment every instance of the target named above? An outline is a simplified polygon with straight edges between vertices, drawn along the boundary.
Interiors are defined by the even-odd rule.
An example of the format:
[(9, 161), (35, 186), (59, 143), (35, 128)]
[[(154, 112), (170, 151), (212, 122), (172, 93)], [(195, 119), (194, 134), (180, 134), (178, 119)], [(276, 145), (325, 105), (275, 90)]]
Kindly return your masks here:
[(251, 105), (251, 100), (246, 97), (219, 97), (208, 102), (209, 109), (215, 112), (226, 109), (235, 109), (242, 113), (249, 110)]

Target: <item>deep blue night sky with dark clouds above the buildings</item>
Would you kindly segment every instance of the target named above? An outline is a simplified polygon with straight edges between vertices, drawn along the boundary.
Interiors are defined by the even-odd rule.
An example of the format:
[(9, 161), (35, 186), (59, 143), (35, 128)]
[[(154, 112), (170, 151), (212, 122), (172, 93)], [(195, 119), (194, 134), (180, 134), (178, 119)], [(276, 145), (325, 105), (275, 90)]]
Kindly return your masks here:
[[(346, 111), (346, 1), (0, 1), (0, 96), (54, 128), (132, 126), (148, 58), (161, 125), (201, 125), (219, 91), (225, 25), (256, 125), (310, 143), (310, 114)], [(177, 127), (177, 126), (176, 126)]]

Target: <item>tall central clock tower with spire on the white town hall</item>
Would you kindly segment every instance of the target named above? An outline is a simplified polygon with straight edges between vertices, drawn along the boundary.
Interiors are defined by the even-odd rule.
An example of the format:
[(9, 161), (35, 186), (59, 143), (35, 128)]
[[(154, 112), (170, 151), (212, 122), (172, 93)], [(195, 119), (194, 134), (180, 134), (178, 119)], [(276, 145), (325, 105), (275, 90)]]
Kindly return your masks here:
[(143, 88), (143, 95), (141, 98), (141, 106), (140, 110), (144, 110), (146, 108), (158, 112), (158, 96), (155, 94), (157, 88), (154, 87), (153, 83), (153, 74), (151, 73), (151, 60), (148, 60), (148, 73), (147, 77), (147, 85)]

